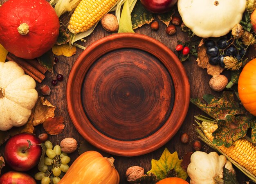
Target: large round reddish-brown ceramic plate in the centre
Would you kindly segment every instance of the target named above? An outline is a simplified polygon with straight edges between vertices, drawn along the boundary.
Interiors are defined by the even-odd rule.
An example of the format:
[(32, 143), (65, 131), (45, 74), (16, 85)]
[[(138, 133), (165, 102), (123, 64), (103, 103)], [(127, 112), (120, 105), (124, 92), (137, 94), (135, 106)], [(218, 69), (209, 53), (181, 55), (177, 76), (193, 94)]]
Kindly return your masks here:
[(138, 156), (163, 146), (189, 107), (190, 87), (175, 54), (146, 35), (113, 34), (90, 45), (67, 81), (67, 109), (95, 147)]

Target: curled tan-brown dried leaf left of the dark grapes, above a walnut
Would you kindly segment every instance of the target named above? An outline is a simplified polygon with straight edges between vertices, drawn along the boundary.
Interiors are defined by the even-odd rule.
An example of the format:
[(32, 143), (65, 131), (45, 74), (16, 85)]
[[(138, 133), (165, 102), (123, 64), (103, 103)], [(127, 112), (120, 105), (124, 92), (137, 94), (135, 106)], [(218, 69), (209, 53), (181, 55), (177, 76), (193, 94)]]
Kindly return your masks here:
[(206, 53), (206, 46), (204, 46), (204, 40), (202, 39), (198, 45), (198, 58), (196, 59), (200, 68), (207, 68), (207, 73), (213, 77), (218, 77), (225, 68), (221, 68), (219, 65), (209, 64), (209, 57)]

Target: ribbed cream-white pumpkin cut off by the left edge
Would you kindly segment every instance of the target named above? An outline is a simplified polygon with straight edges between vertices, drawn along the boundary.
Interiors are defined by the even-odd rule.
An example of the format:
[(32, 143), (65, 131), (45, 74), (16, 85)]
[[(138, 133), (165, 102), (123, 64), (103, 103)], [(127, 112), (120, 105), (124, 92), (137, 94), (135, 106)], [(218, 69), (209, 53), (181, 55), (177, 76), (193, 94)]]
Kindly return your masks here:
[(27, 123), (36, 104), (36, 82), (13, 61), (0, 62), (0, 130)]

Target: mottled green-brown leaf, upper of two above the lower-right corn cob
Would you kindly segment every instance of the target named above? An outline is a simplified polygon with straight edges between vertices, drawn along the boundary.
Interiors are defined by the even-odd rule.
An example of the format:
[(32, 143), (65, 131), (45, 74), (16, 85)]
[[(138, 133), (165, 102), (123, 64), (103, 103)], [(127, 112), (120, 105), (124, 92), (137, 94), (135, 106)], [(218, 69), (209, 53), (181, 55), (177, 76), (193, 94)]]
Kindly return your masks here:
[(239, 107), (239, 103), (235, 100), (232, 92), (223, 92), (221, 97), (214, 97), (207, 104), (201, 102), (198, 98), (190, 99), (190, 101), (215, 119), (225, 119), (227, 114), (249, 114), (245, 108)]

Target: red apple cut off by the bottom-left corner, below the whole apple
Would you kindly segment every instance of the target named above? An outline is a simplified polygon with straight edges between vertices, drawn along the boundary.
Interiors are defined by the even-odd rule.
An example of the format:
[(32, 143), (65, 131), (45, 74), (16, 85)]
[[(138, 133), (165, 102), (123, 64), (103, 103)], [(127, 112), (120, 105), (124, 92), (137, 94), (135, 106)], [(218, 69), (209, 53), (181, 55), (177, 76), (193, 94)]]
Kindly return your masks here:
[(0, 177), (0, 184), (36, 184), (36, 181), (26, 173), (9, 171)]

